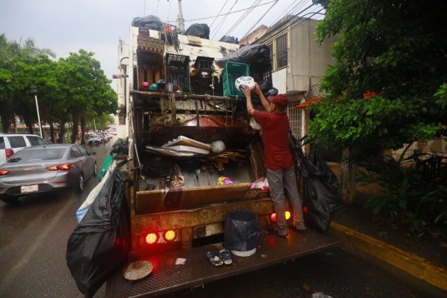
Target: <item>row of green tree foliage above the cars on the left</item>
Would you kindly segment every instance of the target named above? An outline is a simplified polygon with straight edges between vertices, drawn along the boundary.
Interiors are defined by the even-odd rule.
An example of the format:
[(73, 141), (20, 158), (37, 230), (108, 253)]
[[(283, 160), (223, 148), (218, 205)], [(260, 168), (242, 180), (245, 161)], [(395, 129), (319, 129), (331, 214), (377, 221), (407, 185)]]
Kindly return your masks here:
[[(32, 132), (37, 122), (34, 95), (38, 97), (43, 123), (58, 123), (61, 132), (65, 123), (78, 127), (87, 116), (116, 114), (116, 92), (111, 89), (94, 53), (79, 50), (67, 58), (54, 61), (51, 50), (35, 47), (32, 39), (23, 43), (8, 41), (0, 35), (0, 118), (3, 132), (8, 132), (15, 117), (21, 118)], [(30, 85), (36, 86), (36, 94)], [(88, 118), (87, 118), (88, 120)], [(78, 129), (73, 130), (72, 142)]]

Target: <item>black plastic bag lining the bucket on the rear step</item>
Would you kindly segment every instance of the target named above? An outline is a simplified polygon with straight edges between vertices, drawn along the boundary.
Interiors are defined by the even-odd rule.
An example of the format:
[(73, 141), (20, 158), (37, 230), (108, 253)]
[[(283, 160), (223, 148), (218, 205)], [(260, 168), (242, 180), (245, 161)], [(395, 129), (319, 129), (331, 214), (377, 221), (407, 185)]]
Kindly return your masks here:
[(232, 251), (251, 251), (259, 242), (258, 217), (249, 210), (235, 210), (225, 220), (223, 247)]

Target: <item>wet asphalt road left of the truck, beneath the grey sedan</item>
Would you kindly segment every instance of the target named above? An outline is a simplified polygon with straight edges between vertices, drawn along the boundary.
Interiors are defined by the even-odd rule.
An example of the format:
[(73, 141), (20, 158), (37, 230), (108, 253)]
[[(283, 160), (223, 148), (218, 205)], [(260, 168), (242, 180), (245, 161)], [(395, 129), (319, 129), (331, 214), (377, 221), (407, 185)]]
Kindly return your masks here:
[[(98, 172), (113, 142), (87, 148), (96, 151)], [(14, 204), (0, 200), (0, 297), (83, 297), (67, 268), (65, 252), (78, 224), (76, 210), (96, 184), (91, 176), (82, 195), (67, 191), (20, 198)]]

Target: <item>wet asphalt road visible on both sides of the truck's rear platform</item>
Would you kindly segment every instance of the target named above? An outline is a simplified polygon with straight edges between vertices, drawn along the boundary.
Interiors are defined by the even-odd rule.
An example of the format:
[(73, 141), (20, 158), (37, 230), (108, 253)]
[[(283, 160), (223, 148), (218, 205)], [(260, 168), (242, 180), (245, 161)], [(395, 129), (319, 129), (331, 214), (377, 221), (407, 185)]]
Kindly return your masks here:
[[(112, 144), (91, 149), (97, 152), (98, 169)], [(0, 201), (0, 297), (83, 297), (69, 273), (65, 252), (77, 225), (76, 210), (96, 184), (94, 177), (87, 180), (82, 195), (28, 197), (17, 204)], [(384, 269), (353, 252), (349, 246), (331, 248), (162, 297), (307, 298), (314, 292), (333, 298), (447, 297), (446, 292), (422, 286), (398, 270)], [(104, 296), (103, 286), (95, 297)]]

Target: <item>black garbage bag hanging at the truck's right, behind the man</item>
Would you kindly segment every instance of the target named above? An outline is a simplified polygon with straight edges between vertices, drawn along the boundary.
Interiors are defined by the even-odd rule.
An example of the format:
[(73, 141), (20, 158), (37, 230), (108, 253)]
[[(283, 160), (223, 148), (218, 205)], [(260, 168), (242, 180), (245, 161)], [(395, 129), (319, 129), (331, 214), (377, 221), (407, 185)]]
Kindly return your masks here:
[(300, 173), (303, 176), (303, 216), (306, 226), (327, 234), (340, 206), (336, 175), (321, 158), (316, 146), (310, 156), (303, 156)]

